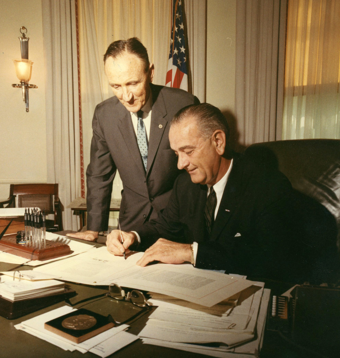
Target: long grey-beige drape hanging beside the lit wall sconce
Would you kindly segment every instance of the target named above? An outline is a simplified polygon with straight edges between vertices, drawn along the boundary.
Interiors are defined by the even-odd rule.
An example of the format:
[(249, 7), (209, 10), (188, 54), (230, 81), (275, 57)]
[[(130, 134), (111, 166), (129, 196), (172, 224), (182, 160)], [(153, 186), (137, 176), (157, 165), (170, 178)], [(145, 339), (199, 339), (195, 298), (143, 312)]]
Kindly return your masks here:
[(46, 86), (47, 182), (59, 184), (63, 227), (78, 230), (66, 206), (81, 196), (78, 69), (74, 1), (42, 0)]

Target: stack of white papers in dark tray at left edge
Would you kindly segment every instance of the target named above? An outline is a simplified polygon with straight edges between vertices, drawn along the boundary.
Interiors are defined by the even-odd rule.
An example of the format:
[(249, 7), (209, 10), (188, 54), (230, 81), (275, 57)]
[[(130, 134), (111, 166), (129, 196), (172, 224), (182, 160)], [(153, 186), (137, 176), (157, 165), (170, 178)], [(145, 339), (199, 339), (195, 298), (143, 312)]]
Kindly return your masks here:
[[(6, 277), (4, 279), (3, 277)], [(43, 297), (64, 292), (65, 284), (57, 280), (13, 281), (10, 276), (1, 276), (0, 295), (11, 301), (20, 301), (30, 298)]]

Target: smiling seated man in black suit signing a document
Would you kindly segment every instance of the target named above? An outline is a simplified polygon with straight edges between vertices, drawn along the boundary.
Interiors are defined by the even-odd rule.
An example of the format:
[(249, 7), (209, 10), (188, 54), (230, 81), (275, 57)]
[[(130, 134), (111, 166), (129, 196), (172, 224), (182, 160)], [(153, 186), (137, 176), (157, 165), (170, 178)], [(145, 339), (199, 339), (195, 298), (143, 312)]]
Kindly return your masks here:
[(108, 251), (122, 255), (139, 243), (139, 251), (146, 249), (141, 266), (191, 262), (252, 277), (309, 278), (302, 203), (280, 171), (229, 150), (228, 123), (218, 108), (183, 108), (169, 140), (186, 173), (176, 179), (160, 216), (123, 232), (123, 244), (119, 231), (111, 232)]

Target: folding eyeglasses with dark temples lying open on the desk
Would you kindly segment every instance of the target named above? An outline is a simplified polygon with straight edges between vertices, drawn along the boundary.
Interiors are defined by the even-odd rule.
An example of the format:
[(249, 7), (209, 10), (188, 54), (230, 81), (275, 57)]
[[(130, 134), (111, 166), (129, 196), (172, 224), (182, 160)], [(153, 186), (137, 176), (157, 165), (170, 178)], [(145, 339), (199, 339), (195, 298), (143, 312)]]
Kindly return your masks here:
[(146, 310), (148, 310), (150, 308), (150, 305), (147, 303), (147, 300), (146, 300), (143, 292), (141, 292), (139, 290), (131, 290), (131, 291), (128, 291), (127, 294), (125, 294), (125, 291), (117, 284), (110, 284), (108, 287), (108, 292), (106, 292), (104, 294), (88, 297), (88, 298), (80, 300), (76, 303), (71, 303), (71, 301), (67, 298), (67, 299), (65, 299), (65, 303), (67, 305), (73, 307), (78, 304), (85, 303), (87, 301), (95, 300), (95, 299), (98, 299), (99, 297), (105, 297), (105, 296), (109, 297), (110, 299), (114, 299), (115, 301), (129, 301), (133, 305), (141, 308), (141, 310), (139, 310), (136, 314), (133, 314), (131, 317), (129, 317), (128, 319), (125, 319), (122, 322), (116, 321), (115, 319), (112, 318), (111, 314), (108, 314), (108, 318), (113, 323), (116, 323), (116, 324), (123, 324), (128, 321), (132, 321), (134, 318), (136, 318), (137, 316), (139, 316), (140, 314), (142, 314), (143, 312), (145, 312)]

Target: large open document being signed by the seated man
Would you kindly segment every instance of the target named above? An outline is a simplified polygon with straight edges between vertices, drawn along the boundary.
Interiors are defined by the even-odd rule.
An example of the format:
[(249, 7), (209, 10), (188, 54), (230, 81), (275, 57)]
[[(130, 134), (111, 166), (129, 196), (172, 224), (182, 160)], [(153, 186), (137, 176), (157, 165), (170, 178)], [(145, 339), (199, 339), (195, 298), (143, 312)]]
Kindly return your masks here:
[(88, 285), (117, 283), (123, 287), (158, 292), (207, 307), (253, 285), (252, 281), (196, 269), (190, 264), (157, 263), (140, 267), (136, 262), (142, 255), (143, 252), (137, 252), (124, 260), (121, 256), (111, 255), (103, 246), (34, 270), (60, 275), (61, 280)]

